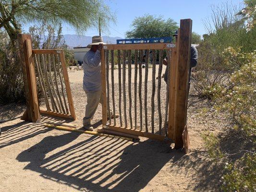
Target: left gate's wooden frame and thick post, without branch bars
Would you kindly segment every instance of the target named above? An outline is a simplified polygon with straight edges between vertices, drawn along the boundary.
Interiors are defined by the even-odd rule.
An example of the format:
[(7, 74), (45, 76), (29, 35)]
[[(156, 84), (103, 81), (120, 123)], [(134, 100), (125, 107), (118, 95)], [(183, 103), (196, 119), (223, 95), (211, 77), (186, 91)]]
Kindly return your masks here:
[[(32, 49), (31, 41), (31, 35), (18, 34), (18, 43), (20, 49), (19, 56), (23, 69), (24, 94), (27, 106), (27, 109), (25, 110), (21, 120), (27, 120), (30, 122), (40, 122), (40, 113), (75, 120), (76, 117), (73, 105), (73, 98), (63, 49)], [(37, 94), (35, 64), (33, 59), (34, 54), (58, 54), (60, 56), (66, 93), (70, 108), (70, 115), (53, 111), (40, 110)]]

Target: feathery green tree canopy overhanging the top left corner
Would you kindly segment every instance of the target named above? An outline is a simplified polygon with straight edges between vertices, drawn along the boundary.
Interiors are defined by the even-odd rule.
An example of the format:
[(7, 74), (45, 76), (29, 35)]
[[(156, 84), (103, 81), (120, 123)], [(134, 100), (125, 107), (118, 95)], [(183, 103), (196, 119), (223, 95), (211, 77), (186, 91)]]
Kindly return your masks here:
[(0, 29), (3, 27), (12, 42), (21, 32), (22, 24), (46, 21), (56, 25), (66, 22), (77, 31), (101, 27), (114, 20), (102, 0), (0, 0)]

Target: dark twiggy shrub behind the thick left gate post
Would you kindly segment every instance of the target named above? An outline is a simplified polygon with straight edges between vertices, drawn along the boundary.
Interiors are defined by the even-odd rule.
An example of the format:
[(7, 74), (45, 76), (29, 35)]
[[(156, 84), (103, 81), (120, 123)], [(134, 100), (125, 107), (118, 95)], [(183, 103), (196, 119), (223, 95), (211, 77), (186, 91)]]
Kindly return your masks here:
[[(68, 49), (63, 36), (61, 25), (55, 32), (55, 28), (45, 23), (30, 27), (34, 49), (64, 49), (67, 65), (73, 65), (73, 51)], [(46, 35), (47, 34), (47, 35)], [(19, 47), (16, 41), (10, 41), (7, 33), (0, 30), (0, 103), (24, 101), (24, 83), (22, 68), (19, 62)], [(39, 86), (38, 94), (41, 95)]]

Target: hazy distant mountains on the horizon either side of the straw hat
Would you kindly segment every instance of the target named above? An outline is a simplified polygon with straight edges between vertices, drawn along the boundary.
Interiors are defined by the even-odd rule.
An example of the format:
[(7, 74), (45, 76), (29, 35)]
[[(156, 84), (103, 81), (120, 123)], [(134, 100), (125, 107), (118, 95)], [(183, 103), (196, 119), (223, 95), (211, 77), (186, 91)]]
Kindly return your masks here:
[[(82, 35), (63, 35), (64, 39), (66, 41), (66, 44), (70, 47), (85, 47), (88, 44), (92, 42), (92, 37), (91, 36), (82, 36)], [(110, 37), (110, 36), (102, 36), (104, 43), (108, 44), (116, 44), (117, 39), (122, 39), (122, 37), (115, 36), (115, 37)]]

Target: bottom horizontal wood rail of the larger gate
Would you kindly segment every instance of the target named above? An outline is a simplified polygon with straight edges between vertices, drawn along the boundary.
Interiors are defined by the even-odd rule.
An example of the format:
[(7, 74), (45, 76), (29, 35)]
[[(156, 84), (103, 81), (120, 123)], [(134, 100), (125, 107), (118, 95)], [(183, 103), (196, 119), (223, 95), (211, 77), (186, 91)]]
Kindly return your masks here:
[(138, 130), (129, 129), (129, 128), (116, 127), (116, 126), (112, 126), (112, 125), (109, 125), (108, 129), (116, 131), (116, 132), (124, 132), (124, 133), (128, 133), (128, 134), (138, 135), (141, 137), (146, 137), (146, 138), (154, 139), (154, 140), (158, 140), (158, 141), (164, 141), (164, 139), (165, 139), (164, 135), (158, 135), (158, 134), (154, 134), (154, 133), (150, 133), (150, 132), (143, 132), (143, 131), (138, 131)]

